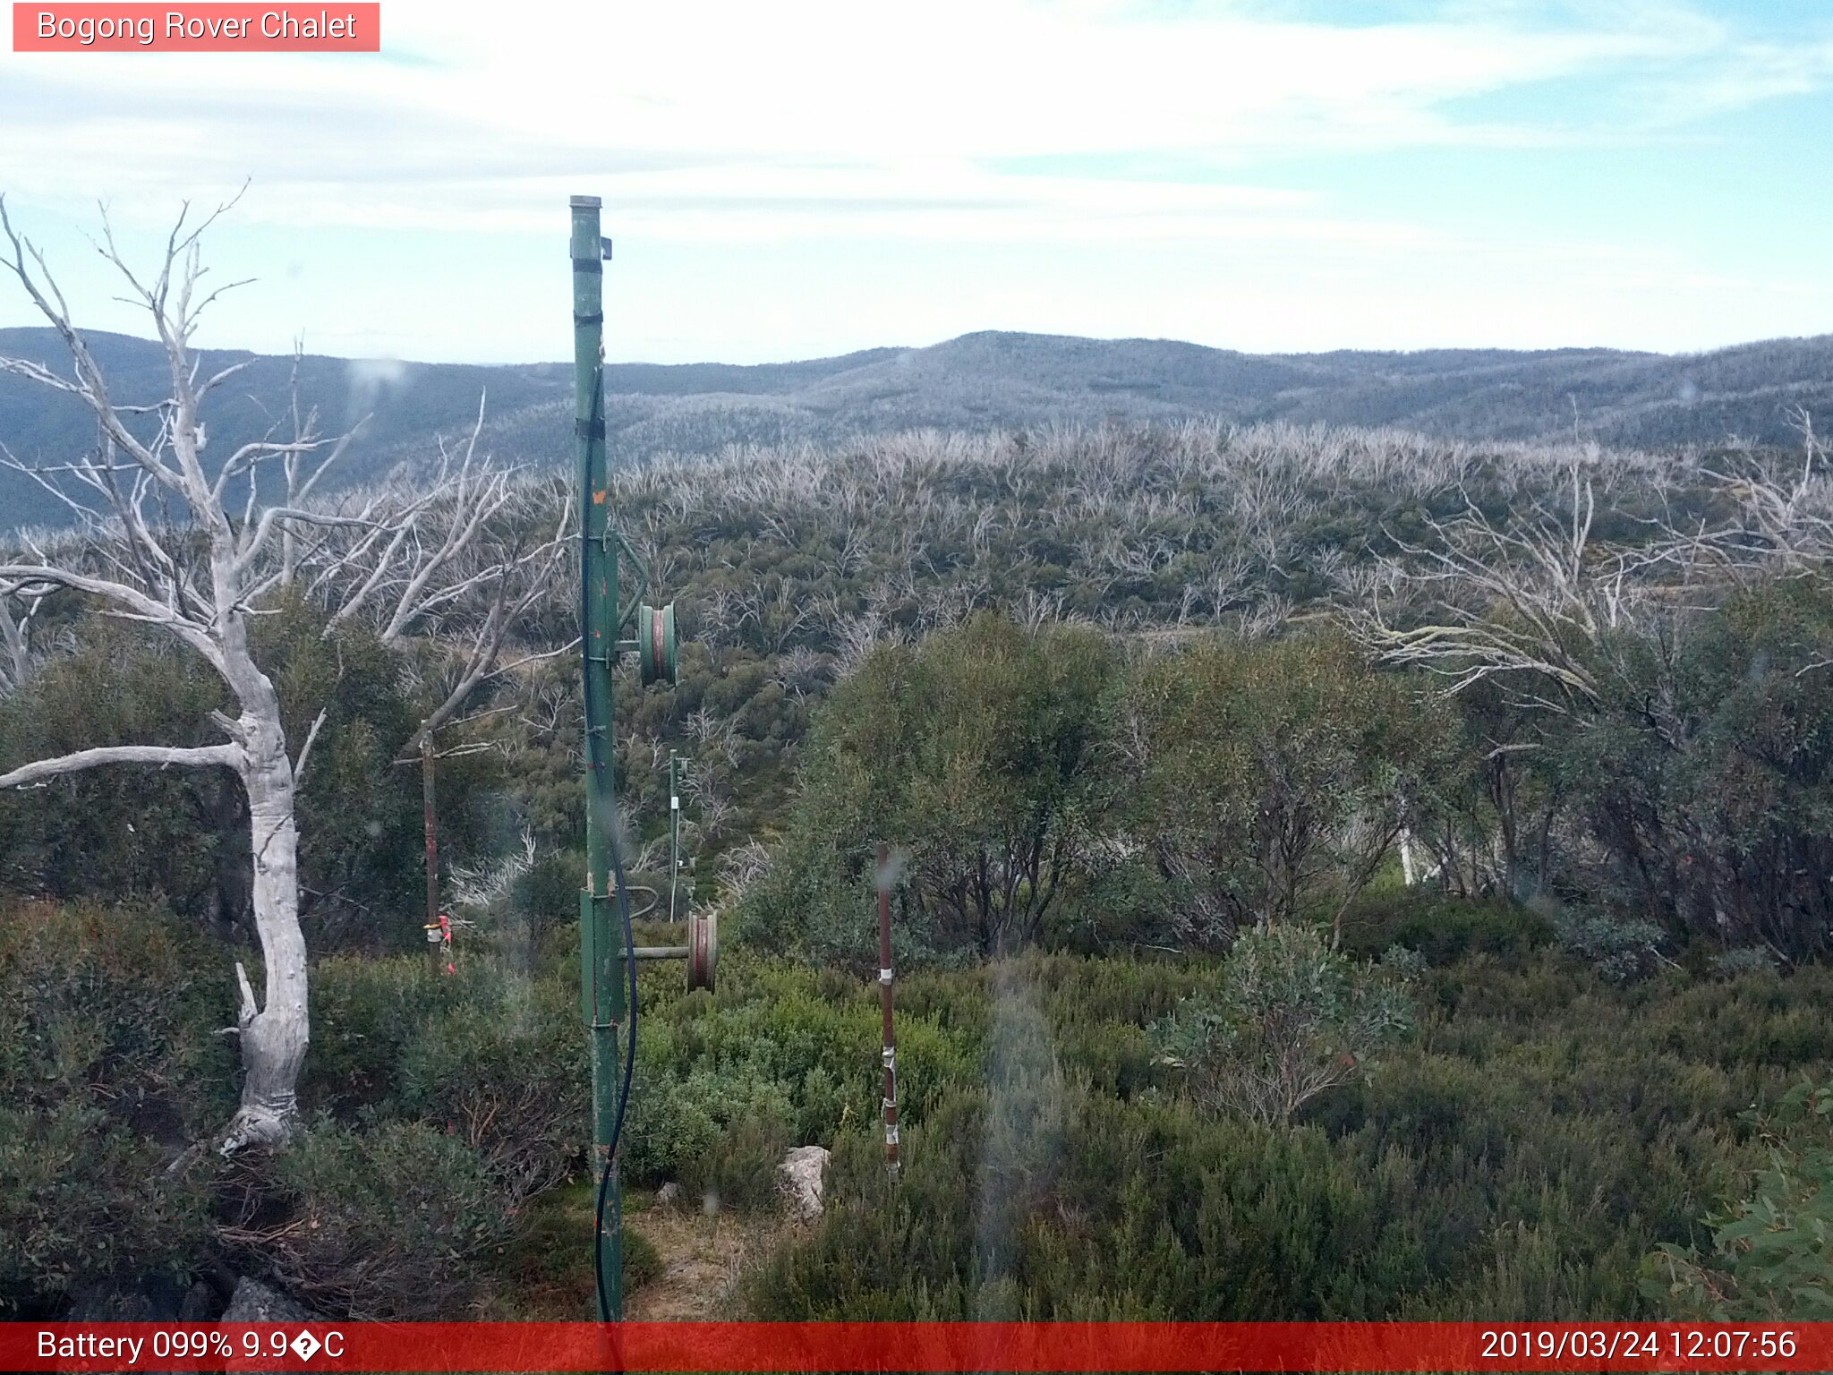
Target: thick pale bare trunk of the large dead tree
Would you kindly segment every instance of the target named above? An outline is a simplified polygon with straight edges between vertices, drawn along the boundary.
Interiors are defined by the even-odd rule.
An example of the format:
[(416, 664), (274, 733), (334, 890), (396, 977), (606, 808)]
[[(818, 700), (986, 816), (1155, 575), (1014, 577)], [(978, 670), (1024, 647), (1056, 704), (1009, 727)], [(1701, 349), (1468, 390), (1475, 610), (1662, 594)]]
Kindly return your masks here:
[(255, 931), (266, 968), (266, 999), (242, 986), (242, 1106), (224, 1135), (222, 1153), (279, 1146), (299, 1116), (299, 1067), (306, 1058), (306, 939), (299, 930), (299, 832), (293, 821), (293, 764), (286, 755), (275, 704), (271, 722), (251, 722), (247, 766), (249, 832), (255, 847)]

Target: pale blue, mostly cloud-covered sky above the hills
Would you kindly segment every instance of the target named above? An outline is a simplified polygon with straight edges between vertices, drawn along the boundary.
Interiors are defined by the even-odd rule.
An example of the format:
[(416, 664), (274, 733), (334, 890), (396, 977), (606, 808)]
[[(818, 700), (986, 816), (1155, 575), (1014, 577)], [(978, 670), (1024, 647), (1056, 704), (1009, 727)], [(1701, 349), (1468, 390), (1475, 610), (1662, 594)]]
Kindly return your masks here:
[[(313, 9), (317, 9), (313, 6)], [(970, 330), (1246, 352), (1833, 332), (1826, 0), (383, 0), (383, 51), (0, 51), (0, 192), (79, 323), (198, 343), (759, 363)], [(0, 275), (0, 326), (35, 323)]]

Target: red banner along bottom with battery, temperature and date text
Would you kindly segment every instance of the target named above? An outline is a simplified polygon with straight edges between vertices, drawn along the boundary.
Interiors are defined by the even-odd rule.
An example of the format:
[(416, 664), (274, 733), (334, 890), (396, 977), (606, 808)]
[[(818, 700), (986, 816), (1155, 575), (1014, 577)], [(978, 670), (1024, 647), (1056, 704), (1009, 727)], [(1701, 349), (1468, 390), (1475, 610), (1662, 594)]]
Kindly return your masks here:
[(0, 1324), (9, 1371), (1815, 1371), (1833, 1324)]

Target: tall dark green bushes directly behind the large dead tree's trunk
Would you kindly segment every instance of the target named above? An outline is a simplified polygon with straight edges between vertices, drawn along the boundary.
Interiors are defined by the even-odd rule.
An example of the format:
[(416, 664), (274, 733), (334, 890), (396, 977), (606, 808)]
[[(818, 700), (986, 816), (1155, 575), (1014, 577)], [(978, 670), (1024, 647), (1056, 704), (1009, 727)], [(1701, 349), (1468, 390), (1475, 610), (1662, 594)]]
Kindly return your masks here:
[[(315, 607), (284, 600), (251, 622), (255, 651), (280, 698), (290, 741), (324, 713), (299, 788), (301, 920), (313, 952), (401, 948), (418, 937), (420, 777), (390, 761), (425, 706), (403, 653), (359, 625), (332, 642)], [(0, 698), (0, 772), (97, 744), (209, 744), (209, 713), (229, 706), (209, 666), (163, 634), (108, 618), (71, 629)], [(95, 691), (95, 684), (108, 691)], [(440, 849), (475, 854), (486, 838), (491, 752), (440, 764)], [(247, 803), (227, 770), (117, 766), (0, 792), (0, 886), (106, 902), (170, 902), (251, 937)]]

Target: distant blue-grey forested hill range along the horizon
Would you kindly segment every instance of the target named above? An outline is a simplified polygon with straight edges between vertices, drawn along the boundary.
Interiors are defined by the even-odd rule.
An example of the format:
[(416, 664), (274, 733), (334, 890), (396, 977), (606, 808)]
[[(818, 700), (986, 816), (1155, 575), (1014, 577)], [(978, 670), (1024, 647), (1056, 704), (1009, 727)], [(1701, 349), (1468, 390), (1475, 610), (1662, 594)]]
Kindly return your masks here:
[[(92, 336), (115, 400), (163, 394), (156, 345)], [(0, 354), (62, 370), (49, 330), (0, 330)], [(249, 354), (205, 352), (211, 372)], [(264, 433), (284, 407), (291, 359), (257, 358), (214, 398), (213, 453)], [(607, 370), (609, 425), (627, 458), (717, 453), (728, 444), (830, 442), (915, 427), (988, 431), (1102, 420), (1289, 420), (1395, 425), (1446, 438), (1545, 438), (1576, 431), (1604, 444), (1664, 447), (1793, 440), (1795, 407), (1833, 411), (1833, 336), (1776, 339), (1710, 354), (1608, 348), (1509, 352), (1237, 354), (1166, 339), (968, 334), (929, 348), (873, 348), (801, 363), (621, 363)], [(423, 462), (431, 434), (453, 433), (488, 390), (499, 458), (557, 462), (570, 451), (572, 368), (367, 363), (308, 356), (301, 394), (332, 429), (370, 414), (348, 480)], [(59, 462), (92, 442), (84, 412), (0, 376), (0, 442), (26, 462)], [(62, 512), (0, 471), (0, 528), (57, 522)]]

